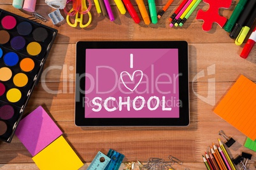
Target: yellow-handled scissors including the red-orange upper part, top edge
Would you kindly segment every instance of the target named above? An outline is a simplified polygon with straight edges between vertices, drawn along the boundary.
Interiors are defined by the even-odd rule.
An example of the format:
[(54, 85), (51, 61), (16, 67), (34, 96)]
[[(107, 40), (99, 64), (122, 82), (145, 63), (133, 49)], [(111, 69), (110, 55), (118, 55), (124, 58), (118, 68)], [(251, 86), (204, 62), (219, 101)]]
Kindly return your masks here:
[[(78, 1), (80, 1), (80, 0), (78, 0)], [(68, 14), (66, 17), (67, 23), (71, 27), (77, 27), (78, 22), (79, 22), (80, 28), (85, 28), (88, 25), (90, 25), (90, 23), (92, 22), (92, 14), (90, 13), (90, 8), (92, 6), (92, 3), (90, 2), (90, 0), (88, 0), (89, 8), (87, 8), (85, 0), (81, 0), (80, 3), (78, 3), (78, 1), (73, 0), (73, 8), (71, 8), (71, 10), (67, 13)], [(78, 14), (80, 14), (80, 18), (78, 18)], [(89, 20), (87, 23), (83, 24), (83, 15), (85, 15), (85, 14), (88, 14)], [(75, 23), (71, 23), (69, 21), (69, 16), (74, 16), (74, 15), (75, 15)]]

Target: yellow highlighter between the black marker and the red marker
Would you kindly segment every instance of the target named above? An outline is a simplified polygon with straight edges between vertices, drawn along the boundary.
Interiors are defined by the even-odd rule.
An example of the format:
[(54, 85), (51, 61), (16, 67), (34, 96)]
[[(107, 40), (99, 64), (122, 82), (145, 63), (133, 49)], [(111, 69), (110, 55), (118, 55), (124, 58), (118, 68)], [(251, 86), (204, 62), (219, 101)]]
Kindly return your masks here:
[(252, 14), (249, 16), (249, 18), (247, 18), (245, 26), (241, 29), (238, 37), (236, 38), (236, 41), (235, 41), (236, 45), (240, 46), (241, 44), (243, 44), (243, 41), (245, 41), (245, 37), (250, 31), (250, 28), (252, 27), (255, 18), (256, 18), (256, 10), (253, 10)]

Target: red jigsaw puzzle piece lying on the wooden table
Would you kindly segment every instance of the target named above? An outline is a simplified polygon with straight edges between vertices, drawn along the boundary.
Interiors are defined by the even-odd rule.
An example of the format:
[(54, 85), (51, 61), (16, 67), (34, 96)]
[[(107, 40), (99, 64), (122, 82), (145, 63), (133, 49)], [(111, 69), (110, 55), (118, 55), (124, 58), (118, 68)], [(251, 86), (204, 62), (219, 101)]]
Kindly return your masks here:
[(218, 14), (218, 10), (220, 8), (229, 8), (231, 6), (232, 0), (203, 0), (204, 3), (209, 4), (208, 11), (199, 10), (197, 12), (196, 19), (197, 20), (204, 20), (202, 25), (202, 29), (204, 31), (211, 30), (211, 26), (213, 23), (218, 23), (220, 27), (224, 27), (225, 23), (227, 22), (227, 18), (224, 16), (220, 16)]

